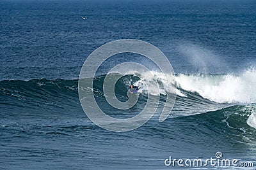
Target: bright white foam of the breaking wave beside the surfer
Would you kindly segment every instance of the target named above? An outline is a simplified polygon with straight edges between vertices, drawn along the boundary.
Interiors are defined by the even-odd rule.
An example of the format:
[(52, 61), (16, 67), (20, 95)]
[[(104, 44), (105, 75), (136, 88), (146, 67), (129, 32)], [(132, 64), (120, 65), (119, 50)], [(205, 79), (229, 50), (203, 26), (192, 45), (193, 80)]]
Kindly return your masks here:
[[(147, 92), (150, 88), (152, 95), (165, 95), (168, 91), (186, 97), (186, 94), (179, 90), (183, 89), (196, 92), (216, 103), (256, 103), (256, 70), (253, 67), (241, 74), (178, 74), (173, 76), (173, 74), (164, 75), (157, 71), (145, 73), (129, 71), (129, 74), (136, 74), (140, 77), (141, 80), (134, 83), (140, 87), (140, 92)], [(156, 80), (158, 85), (152, 80)], [(175, 86), (179, 89), (175, 89)], [(156, 89), (156, 87), (159, 88)]]

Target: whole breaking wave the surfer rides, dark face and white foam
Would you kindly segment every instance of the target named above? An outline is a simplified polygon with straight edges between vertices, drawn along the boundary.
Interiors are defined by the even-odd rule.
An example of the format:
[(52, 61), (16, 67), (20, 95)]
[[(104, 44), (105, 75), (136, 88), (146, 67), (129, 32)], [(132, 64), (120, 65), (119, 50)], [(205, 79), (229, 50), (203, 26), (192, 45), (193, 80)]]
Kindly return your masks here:
[[(120, 73), (111, 73), (113, 76)], [(160, 95), (159, 106), (164, 106), (167, 91), (177, 93), (177, 100), (170, 117), (196, 115), (208, 111), (216, 111), (229, 106), (240, 105), (244, 108), (254, 107), (256, 103), (256, 71), (248, 69), (239, 75), (234, 74), (177, 74), (167, 75), (151, 73), (132, 73), (135, 76), (123, 76), (115, 85), (116, 97), (120, 101), (127, 100), (127, 90), (130, 84), (140, 87), (138, 100), (139, 110), (147, 103), (147, 88), (156, 88), (150, 84), (155, 79), (159, 84), (159, 91), (151, 90), (152, 96)], [(106, 75), (94, 78), (93, 88), (98, 103), (109, 113), (115, 112), (104, 99), (102, 89)], [(140, 77), (140, 78), (138, 78)], [(35, 79), (29, 81), (4, 80), (0, 81), (0, 99), (2, 111), (13, 108), (33, 108), (35, 110), (57, 110), (58, 108), (77, 108), (79, 100), (77, 94), (78, 80), (46, 80)], [(146, 87), (146, 85), (152, 87)], [(159, 92), (160, 94), (157, 94)], [(6, 110), (3, 110), (5, 108)], [(241, 111), (239, 111), (241, 112)], [(242, 111), (243, 112), (243, 111)], [(118, 112), (120, 113), (120, 112)], [(246, 114), (248, 111), (246, 111)], [(116, 113), (115, 113), (116, 114)], [(136, 112), (134, 113), (136, 115)], [(252, 109), (247, 124), (255, 128), (255, 111)]]

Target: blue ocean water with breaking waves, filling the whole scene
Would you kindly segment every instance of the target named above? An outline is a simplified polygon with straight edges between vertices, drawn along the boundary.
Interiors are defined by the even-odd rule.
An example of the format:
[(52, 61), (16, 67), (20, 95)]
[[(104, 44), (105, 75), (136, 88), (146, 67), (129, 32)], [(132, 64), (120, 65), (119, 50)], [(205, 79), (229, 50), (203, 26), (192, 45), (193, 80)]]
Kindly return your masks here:
[[(0, 1), (0, 169), (180, 169), (164, 160), (205, 160), (216, 152), (255, 168), (255, 9), (250, 0)], [(84, 114), (78, 78), (93, 50), (128, 38), (157, 46), (175, 74), (163, 80), (150, 60), (134, 53), (102, 63), (93, 90), (111, 117), (134, 117), (148, 95), (160, 96), (146, 124), (111, 132)], [(141, 88), (134, 107), (116, 110), (102, 84), (111, 67), (128, 61), (150, 67), (154, 76), (127, 68), (118, 73), (132, 73), (115, 85), (120, 101), (131, 83)], [(161, 86), (149, 94), (143, 82), (152, 80)], [(177, 99), (160, 123), (166, 83)]]

